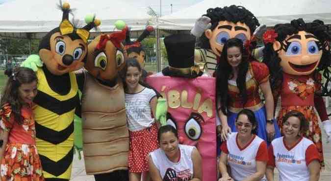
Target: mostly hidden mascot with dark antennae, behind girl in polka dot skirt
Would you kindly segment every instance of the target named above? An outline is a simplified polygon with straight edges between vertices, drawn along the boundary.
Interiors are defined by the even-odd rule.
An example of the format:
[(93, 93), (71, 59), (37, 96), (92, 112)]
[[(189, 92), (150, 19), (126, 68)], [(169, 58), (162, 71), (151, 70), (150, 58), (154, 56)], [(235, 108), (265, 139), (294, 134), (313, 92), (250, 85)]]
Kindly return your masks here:
[[(151, 32), (154, 31), (153, 26), (147, 26), (143, 33), (138, 37), (138, 39), (134, 42), (131, 42), (130, 40), (130, 32), (127, 31), (127, 37), (125, 40), (125, 49), (127, 50), (127, 57), (128, 58), (135, 58), (140, 64), (140, 67), (142, 69), (142, 79), (145, 80), (145, 78), (148, 76), (149, 72), (147, 72), (145, 68), (145, 57), (146, 52), (141, 45), (141, 41), (143, 41), (147, 36), (151, 34)], [(152, 74), (152, 73), (150, 73)]]

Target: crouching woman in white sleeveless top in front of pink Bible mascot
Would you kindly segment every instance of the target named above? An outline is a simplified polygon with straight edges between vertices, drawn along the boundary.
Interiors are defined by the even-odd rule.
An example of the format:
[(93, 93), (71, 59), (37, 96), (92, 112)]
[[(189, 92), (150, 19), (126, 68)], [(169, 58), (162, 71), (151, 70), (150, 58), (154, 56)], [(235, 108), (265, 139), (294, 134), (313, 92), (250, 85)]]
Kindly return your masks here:
[(196, 147), (178, 144), (177, 130), (171, 125), (161, 126), (157, 139), (160, 148), (148, 157), (153, 181), (202, 181), (202, 160)]

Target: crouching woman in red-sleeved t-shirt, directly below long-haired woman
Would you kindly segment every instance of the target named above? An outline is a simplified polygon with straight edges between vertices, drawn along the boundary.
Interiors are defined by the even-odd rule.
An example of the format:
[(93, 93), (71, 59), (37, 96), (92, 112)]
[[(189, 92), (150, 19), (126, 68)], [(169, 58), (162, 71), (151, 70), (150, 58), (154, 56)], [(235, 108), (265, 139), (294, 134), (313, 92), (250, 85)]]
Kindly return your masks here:
[(265, 174), (268, 150), (267, 143), (255, 135), (258, 125), (254, 112), (240, 111), (235, 126), (238, 133), (232, 133), (221, 145), (219, 181), (260, 181)]

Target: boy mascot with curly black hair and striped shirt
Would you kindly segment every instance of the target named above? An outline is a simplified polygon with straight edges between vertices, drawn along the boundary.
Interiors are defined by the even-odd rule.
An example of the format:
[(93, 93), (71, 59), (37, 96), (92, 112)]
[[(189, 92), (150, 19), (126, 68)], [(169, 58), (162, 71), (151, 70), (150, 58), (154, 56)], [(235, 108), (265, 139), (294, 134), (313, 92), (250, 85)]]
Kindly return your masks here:
[[(253, 33), (259, 25), (253, 13), (245, 7), (231, 5), (209, 8), (191, 30), (194, 36), (200, 37), (200, 48), (195, 50), (195, 62), (205, 63), (208, 71), (213, 73), (224, 43), (230, 38), (241, 39), (244, 43), (253, 40)], [(255, 36), (259, 36), (260, 33), (256, 33)]]

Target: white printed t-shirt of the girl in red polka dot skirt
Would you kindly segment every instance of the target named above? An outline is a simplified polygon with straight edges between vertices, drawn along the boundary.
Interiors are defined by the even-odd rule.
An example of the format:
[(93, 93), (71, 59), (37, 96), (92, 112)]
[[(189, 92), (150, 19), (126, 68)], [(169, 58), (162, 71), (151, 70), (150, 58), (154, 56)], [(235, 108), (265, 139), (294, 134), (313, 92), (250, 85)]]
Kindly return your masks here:
[(130, 131), (149, 128), (154, 123), (150, 102), (156, 96), (153, 89), (144, 88), (138, 93), (125, 93), (127, 125)]

